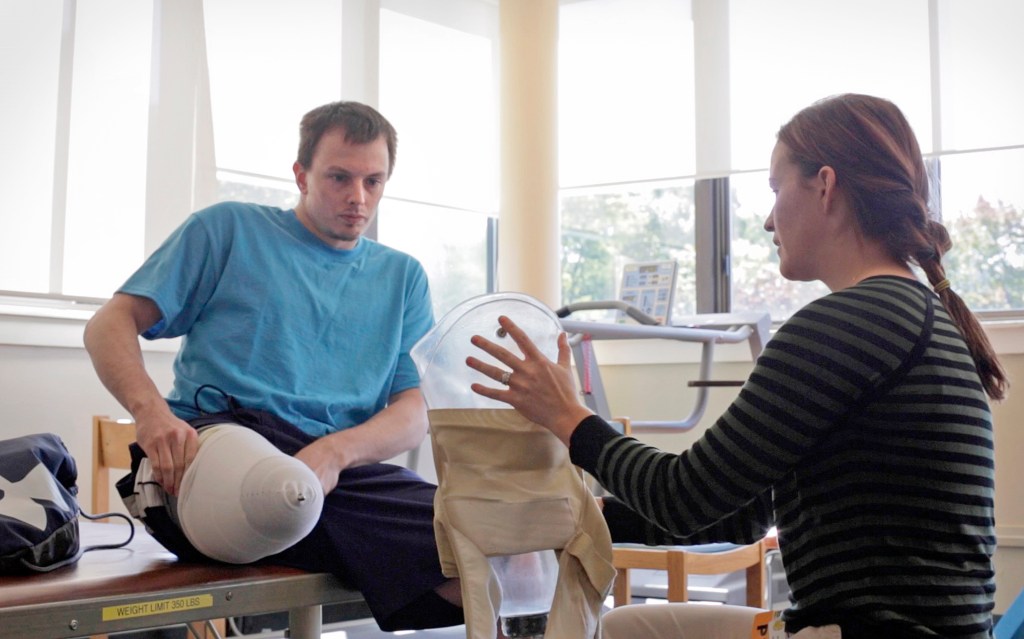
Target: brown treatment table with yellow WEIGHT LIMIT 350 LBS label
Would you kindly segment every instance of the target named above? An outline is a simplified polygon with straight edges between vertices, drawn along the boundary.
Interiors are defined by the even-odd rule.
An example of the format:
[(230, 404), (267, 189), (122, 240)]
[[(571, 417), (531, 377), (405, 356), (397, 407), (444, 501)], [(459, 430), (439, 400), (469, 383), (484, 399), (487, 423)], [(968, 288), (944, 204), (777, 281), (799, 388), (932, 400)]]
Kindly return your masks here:
[[(83, 547), (124, 541), (116, 523), (82, 521)], [(315, 639), (326, 603), (362, 596), (326, 573), (183, 563), (136, 526), (132, 543), (85, 553), (52, 572), (0, 577), (0, 639), (82, 637), (288, 610), (291, 637)]]

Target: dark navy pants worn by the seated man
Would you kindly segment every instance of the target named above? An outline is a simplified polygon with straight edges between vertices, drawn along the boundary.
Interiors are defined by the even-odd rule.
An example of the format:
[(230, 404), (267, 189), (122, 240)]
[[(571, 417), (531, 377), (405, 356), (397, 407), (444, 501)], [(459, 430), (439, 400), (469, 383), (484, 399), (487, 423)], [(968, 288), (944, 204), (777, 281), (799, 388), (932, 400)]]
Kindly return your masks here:
[[(274, 415), (240, 407), (190, 423), (197, 428), (221, 423), (246, 426), (287, 455), (315, 440)], [(339, 476), (338, 486), (325, 496), (324, 511), (313, 530), (261, 562), (336, 574), (362, 593), (385, 631), (458, 626), (464, 623), (462, 608), (434, 592), (447, 581), (434, 541), (436, 488), (392, 464), (349, 468)], [(155, 537), (179, 557), (195, 559), (198, 551), (179, 530), (172, 532), (170, 539)], [(182, 541), (188, 548), (178, 546)]]

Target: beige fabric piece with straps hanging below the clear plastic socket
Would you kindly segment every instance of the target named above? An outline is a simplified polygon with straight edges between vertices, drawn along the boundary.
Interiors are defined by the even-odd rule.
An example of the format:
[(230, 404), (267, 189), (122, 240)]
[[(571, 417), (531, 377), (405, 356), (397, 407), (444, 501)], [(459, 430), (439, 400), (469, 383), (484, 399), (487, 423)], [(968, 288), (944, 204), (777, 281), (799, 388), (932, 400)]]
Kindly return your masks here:
[(546, 638), (598, 633), (615, 570), (611, 538), (581, 471), (548, 430), (511, 409), (428, 412), (441, 569), (462, 580), (469, 639), (497, 636), (501, 588), (488, 557), (555, 550)]

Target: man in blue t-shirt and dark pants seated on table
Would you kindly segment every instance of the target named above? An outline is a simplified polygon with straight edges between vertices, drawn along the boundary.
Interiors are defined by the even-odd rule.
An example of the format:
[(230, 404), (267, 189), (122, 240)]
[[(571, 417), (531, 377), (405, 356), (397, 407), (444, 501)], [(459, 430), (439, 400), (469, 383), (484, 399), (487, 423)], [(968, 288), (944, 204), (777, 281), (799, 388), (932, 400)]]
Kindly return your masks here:
[[(385, 630), (461, 623), (459, 585), (441, 574), (434, 545), (435, 486), (381, 463), (426, 434), (410, 350), (433, 325), (419, 262), (362, 237), (395, 150), (394, 129), (365, 104), (309, 112), (294, 210), (221, 203), (194, 213), (85, 331), (169, 494), (211, 414), (309, 466), (327, 496), (321, 521), (269, 560), (339, 574)], [(183, 338), (166, 398), (139, 335)], [(232, 420), (241, 409), (256, 417)]]

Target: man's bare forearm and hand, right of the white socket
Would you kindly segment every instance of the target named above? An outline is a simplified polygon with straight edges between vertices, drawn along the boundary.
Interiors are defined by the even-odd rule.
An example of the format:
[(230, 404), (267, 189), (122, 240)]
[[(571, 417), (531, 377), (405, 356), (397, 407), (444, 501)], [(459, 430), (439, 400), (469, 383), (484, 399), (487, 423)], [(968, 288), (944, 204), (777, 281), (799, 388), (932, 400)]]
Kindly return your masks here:
[(410, 388), (392, 395), (383, 411), (362, 424), (321, 437), (295, 457), (313, 469), (330, 493), (341, 471), (391, 459), (420, 445), (426, 434), (426, 401), (419, 388)]

